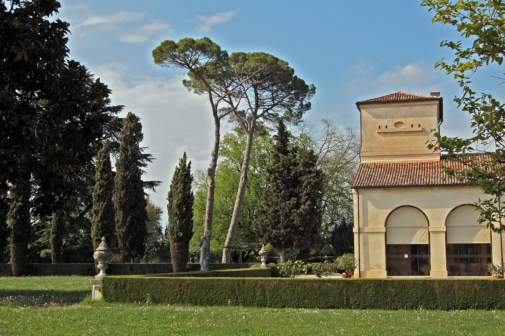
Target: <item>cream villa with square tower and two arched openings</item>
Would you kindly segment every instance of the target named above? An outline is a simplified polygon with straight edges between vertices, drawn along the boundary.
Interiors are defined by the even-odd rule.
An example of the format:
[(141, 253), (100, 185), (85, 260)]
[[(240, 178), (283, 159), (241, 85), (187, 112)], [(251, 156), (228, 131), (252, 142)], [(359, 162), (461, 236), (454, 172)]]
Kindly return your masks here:
[(482, 264), (500, 263), (500, 235), (479, 225), (473, 205), (481, 189), (444, 178), (441, 166), (457, 163), (427, 148), (431, 130), (443, 120), (440, 92), (399, 91), (356, 106), (361, 163), (351, 186), (355, 276), (384, 278), (389, 265), (396, 269), (390, 276), (425, 275), (420, 267), (429, 265), (429, 276), (444, 278), (452, 264), (461, 267), (455, 275), (481, 276)]

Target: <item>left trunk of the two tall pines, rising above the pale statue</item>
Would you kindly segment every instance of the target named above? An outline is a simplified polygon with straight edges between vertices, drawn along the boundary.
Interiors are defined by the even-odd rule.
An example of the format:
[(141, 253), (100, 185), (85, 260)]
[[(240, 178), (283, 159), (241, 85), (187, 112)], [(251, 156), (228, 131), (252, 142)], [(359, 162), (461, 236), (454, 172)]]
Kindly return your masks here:
[(216, 167), (218, 165), (218, 155), (219, 155), (219, 141), (220, 141), (220, 127), (221, 121), (217, 117), (217, 114), (214, 116), (214, 124), (216, 125), (216, 129), (214, 130), (214, 149), (212, 150), (212, 161), (210, 167), (207, 169), (207, 175), (209, 176), (207, 179), (207, 206), (205, 208), (205, 221), (204, 221), (204, 234), (206, 230), (211, 232), (209, 236), (209, 252), (210, 252), (210, 240), (212, 236), (212, 215), (214, 213), (214, 189), (216, 188), (215, 180), (216, 180)]

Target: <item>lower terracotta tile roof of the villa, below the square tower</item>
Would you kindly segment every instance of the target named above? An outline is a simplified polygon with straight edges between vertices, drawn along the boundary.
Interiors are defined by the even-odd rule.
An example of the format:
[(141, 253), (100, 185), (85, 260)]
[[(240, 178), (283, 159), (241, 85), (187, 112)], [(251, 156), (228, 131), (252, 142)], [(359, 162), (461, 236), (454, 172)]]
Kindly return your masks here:
[[(487, 156), (472, 155), (481, 167), (489, 167)], [(405, 186), (466, 185), (447, 176), (441, 166), (462, 169), (464, 165), (442, 155), (439, 161), (428, 162), (364, 162), (360, 163), (351, 188), (387, 188)]]

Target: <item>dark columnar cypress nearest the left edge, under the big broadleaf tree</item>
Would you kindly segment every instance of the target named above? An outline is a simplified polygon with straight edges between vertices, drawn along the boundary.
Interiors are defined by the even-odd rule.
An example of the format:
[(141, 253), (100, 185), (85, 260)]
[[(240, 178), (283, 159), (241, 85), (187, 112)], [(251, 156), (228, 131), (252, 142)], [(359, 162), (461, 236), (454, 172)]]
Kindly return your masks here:
[(23, 174), (11, 186), (11, 209), (7, 222), (11, 229), (11, 266), (14, 276), (26, 272), (26, 256), (30, 241), (30, 175)]

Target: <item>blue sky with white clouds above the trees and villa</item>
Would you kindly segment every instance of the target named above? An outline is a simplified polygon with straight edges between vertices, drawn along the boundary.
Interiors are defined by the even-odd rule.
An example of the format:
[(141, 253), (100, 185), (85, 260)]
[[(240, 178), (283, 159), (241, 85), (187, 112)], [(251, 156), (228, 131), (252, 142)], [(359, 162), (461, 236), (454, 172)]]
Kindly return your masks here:
[[(173, 169), (184, 151), (193, 169), (207, 168), (214, 124), (204, 98), (187, 92), (183, 75), (153, 63), (152, 50), (166, 39), (210, 37), (230, 54), (266, 52), (287, 62), (316, 85), (316, 125), (330, 117), (359, 126), (355, 102), (407, 91), (444, 97), (441, 132), (469, 136), (469, 116), (452, 99), (455, 80), (434, 69), (453, 54), (440, 47), (460, 40), (451, 26), (431, 24), (419, 1), (61, 1), (58, 18), (70, 23), (71, 57), (113, 90), (114, 104), (142, 118), (143, 146), (157, 160), (144, 179), (164, 183), (153, 195), (164, 209)], [(478, 73), (477, 91), (499, 97), (492, 66)], [(493, 72), (494, 71), (494, 72)], [(226, 131), (223, 127), (222, 133)]]

